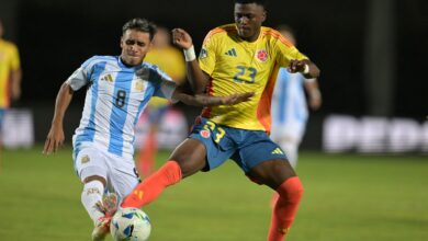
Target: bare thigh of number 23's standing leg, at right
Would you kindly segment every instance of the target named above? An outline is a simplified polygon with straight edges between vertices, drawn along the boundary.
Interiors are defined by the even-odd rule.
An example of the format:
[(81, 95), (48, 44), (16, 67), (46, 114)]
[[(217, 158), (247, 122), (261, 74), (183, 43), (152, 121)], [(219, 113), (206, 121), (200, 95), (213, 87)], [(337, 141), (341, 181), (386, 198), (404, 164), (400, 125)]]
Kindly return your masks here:
[(295, 172), (285, 159), (260, 162), (246, 173), (251, 180), (277, 190), (285, 180), (295, 176)]

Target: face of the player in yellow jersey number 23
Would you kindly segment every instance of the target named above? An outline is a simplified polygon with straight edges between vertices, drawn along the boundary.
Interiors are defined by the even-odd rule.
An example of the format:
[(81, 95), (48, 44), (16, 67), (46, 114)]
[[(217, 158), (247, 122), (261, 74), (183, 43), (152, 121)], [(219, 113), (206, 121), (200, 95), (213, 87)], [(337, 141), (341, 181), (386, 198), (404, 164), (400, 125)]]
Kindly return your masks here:
[(262, 5), (256, 3), (235, 4), (235, 23), (243, 39), (248, 42), (257, 41), (264, 20), (266, 11)]

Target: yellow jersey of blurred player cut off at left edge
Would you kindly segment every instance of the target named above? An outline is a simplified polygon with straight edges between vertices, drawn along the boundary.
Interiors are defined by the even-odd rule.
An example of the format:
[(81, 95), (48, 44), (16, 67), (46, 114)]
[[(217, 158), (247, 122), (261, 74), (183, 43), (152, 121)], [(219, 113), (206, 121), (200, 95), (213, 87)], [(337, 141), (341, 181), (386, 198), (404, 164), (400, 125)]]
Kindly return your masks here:
[(20, 69), (16, 46), (0, 39), (0, 108), (9, 107), (10, 72)]

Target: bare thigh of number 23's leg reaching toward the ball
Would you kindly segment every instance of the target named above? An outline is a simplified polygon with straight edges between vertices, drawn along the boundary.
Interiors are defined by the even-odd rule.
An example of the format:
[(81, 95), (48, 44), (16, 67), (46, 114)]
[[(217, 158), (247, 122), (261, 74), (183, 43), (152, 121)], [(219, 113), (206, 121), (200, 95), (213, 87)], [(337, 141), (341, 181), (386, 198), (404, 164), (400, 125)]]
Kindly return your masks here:
[(182, 176), (187, 177), (206, 165), (205, 157), (204, 145), (196, 139), (188, 138), (173, 150), (170, 160), (179, 163)]

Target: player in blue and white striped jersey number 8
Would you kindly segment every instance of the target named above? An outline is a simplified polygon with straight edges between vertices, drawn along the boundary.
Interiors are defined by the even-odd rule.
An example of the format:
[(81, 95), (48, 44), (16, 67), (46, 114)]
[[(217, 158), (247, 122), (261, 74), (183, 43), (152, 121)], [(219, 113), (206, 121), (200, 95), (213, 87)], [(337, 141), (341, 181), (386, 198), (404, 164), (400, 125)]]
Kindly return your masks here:
[[(188, 95), (176, 88), (169, 76), (144, 62), (156, 26), (133, 19), (123, 26), (120, 56), (94, 56), (81, 65), (61, 85), (44, 146), (55, 152), (64, 142), (64, 115), (75, 91), (87, 87), (79, 127), (72, 137), (74, 164), (83, 184), (81, 202), (95, 228), (92, 240), (109, 232), (115, 204), (138, 183), (135, 171), (134, 126), (151, 96), (182, 101), (191, 105), (236, 104), (252, 93), (229, 96)], [(104, 192), (115, 193), (103, 198)]]

